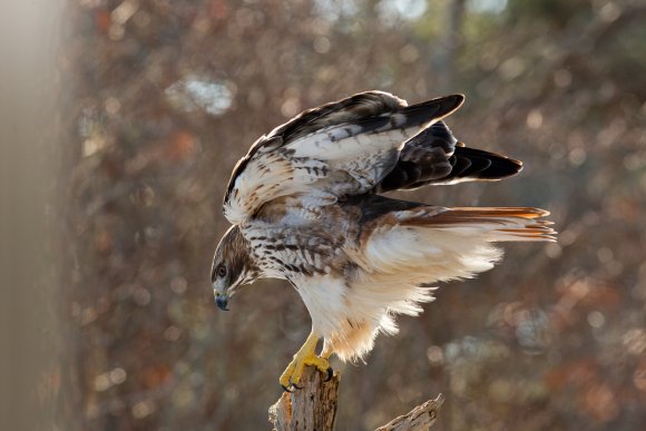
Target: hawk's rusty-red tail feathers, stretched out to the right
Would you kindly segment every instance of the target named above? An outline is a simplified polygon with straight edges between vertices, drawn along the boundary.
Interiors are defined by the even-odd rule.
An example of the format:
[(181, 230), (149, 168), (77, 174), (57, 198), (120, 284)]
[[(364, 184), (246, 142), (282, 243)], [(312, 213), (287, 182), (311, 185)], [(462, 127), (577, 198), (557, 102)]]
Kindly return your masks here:
[(556, 231), (550, 227), (552, 223), (538, 219), (549, 215), (544, 209), (474, 207), (447, 208), (439, 213), (434, 208), (433, 212), (434, 214), (417, 212), (415, 215), (401, 223), (463, 234), (484, 234), (489, 242), (556, 241)]

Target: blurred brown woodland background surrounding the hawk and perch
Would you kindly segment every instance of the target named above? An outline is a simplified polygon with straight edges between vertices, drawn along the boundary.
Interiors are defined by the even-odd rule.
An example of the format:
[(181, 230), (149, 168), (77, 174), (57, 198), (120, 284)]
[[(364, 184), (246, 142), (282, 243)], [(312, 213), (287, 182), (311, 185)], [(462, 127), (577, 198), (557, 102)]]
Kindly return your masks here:
[[(333, 362), (337, 429), (373, 429), (438, 393), (443, 430), (643, 429), (644, 1), (22, 4), (4, 19), (36, 60), (2, 71), (29, 90), (3, 84), (27, 100), (2, 101), (3, 151), (27, 151), (6, 158), (3, 179), (6, 286), (25, 286), (3, 331), (32, 341), (2, 368), (21, 388), (14, 415), (38, 409), (39, 427), (60, 430), (268, 429), (310, 320), (273, 281), (216, 310), (224, 189), (260, 135), (381, 89), (410, 102), (463, 92), (448, 120), (459, 139), (525, 161), (502, 183), (408, 199), (537, 206), (560, 234), (505, 245), (495, 270), (442, 285), (366, 364)], [(19, 175), (39, 178), (20, 183), (27, 195)]]

